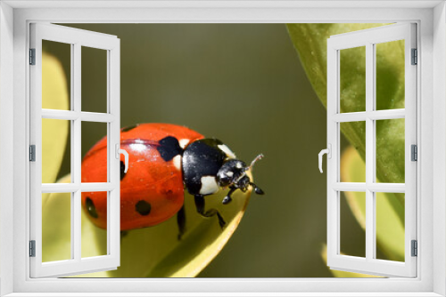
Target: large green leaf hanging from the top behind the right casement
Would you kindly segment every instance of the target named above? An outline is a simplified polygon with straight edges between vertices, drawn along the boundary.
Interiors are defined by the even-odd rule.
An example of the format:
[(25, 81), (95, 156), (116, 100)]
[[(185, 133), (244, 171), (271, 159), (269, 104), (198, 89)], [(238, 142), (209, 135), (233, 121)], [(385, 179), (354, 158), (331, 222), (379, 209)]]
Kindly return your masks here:
[[(319, 100), (326, 106), (326, 40), (346, 32), (385, 24), (288, 24), (301, 64)], [(404, 108), (404, 43), (376, 45), (376, 107)], [(341, 51), (343, 112), (365, 110), (365, 51)], [(365, 159), (364, 129), (343, 124), (343, 134)], [(404, 120), (376, 121), (376, 177), (383, 182), (404, 182)], [(402, 203), (402, 197), (398, 196)]]

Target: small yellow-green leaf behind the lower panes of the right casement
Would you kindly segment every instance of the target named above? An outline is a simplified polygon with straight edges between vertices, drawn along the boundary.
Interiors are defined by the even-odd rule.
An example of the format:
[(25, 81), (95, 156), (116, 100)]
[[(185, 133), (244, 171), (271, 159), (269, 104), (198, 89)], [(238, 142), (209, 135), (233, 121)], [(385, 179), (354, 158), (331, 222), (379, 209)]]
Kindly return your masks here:
[[(366, 165), (356, 149), (344, 150), (341, 176), (351, 182), (364, 181)], [(366, 229), (365, 193), (345, 192), (351, 212)], [(376, 193), (376, 245), (388, 260), (404, 261), (404, 205), (392, 193)]]

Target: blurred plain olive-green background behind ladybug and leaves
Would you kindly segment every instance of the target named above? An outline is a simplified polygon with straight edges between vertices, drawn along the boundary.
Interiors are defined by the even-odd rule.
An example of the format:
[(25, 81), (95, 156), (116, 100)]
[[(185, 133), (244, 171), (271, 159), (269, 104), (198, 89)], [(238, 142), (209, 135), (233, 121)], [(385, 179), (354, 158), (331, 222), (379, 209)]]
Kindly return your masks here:
[[(317, 164), (326, 109), (284, 24), (63, 25), (120, 38), (122, 127), (183, 124), (223, 140), (247, 163), (265, 155), (254, 178), (266, 195), (252, 196), (234, 236), (198, 277), (332, 277), (321, 257), (326, 174)], [(70, 51), (44, 50), (70, 77)], [(82, 52), (84, 111), (105, 111), (103, 53)], [(104, 136), (100, 128), (82, 130), (83, 154)], [(65, 156), (60, 176), (70, 173), (69, 150)], [(344, 199), (341, 212), (343, 253), (364, 251), (364, 231)]]

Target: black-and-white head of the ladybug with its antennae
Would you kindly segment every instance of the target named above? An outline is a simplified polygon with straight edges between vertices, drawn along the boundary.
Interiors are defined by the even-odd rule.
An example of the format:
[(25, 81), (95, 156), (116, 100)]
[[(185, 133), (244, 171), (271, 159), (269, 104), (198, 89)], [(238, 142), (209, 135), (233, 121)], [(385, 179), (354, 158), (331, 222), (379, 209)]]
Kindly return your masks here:
[(232, 194), (235, 189), (241, 189), (243, 192), (246, 192), (249, 186), (252, 186), (256, 194), (264, 194), (263, 190), (257, 187), (251, 181), (250, 177), (246, 174), (252, 169), (252, 166), (262, 157), (263, 155), (261, 154), (257, 156), (249, 166), (246, 166), (244, 161), (238, 159), (229, 159), (220, 167), (216, 179), (219, 187), (229, 187), (229, 189), (231, 189), (227, 197), (223, 199), (223, 204), (226, 205), (232, 200), (230, 194)]

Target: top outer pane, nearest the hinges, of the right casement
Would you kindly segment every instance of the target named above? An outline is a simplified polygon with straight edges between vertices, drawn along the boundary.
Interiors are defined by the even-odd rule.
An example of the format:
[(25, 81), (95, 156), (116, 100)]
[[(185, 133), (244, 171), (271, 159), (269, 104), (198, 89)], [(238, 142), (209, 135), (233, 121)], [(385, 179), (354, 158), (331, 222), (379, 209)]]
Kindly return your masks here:
[(376, 110), (404, 108), (404, 40), (376, 44)]

